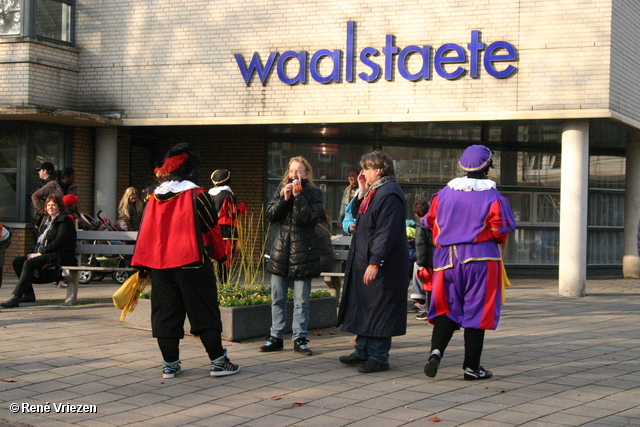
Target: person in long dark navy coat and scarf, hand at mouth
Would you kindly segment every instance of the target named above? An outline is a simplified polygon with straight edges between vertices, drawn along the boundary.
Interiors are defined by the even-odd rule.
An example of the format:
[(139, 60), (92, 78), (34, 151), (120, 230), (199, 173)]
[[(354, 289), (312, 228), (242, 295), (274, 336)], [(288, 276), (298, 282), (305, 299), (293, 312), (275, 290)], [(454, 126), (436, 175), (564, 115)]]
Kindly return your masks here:
[(391, 157), (374, 151), (362, 157), (360, 167), (352, 210), (356, 230), (338, 312), (338, 325), (357, 338), (355, 351), (339, 360), (369, 373), (389, 369), (391, 337), (406, 333), (409, 253), (406, 200)]

